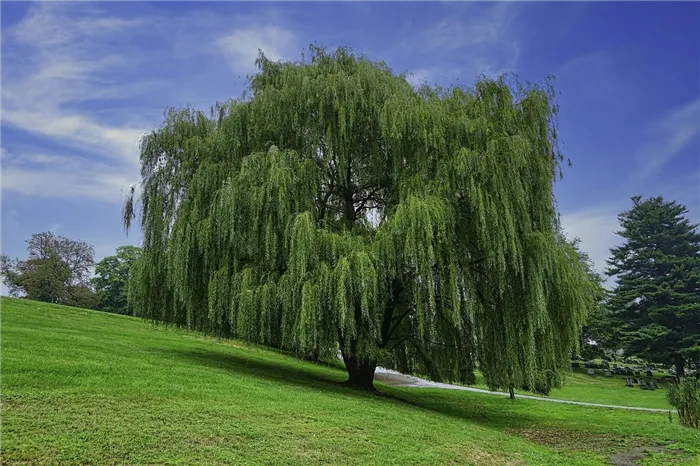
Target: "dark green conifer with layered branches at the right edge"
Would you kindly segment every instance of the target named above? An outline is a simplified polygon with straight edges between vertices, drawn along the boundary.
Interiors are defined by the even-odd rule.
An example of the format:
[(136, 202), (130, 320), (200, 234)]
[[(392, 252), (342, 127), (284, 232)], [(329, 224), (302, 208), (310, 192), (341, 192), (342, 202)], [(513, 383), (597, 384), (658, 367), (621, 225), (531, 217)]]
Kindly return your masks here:
[(700, 234), (688, 209), (663, 197), (632, 198), (618, 218), (625, 242), (611, 249), (617, 277), (610, 310), (630, 354), (676, 366), (700, 359)]

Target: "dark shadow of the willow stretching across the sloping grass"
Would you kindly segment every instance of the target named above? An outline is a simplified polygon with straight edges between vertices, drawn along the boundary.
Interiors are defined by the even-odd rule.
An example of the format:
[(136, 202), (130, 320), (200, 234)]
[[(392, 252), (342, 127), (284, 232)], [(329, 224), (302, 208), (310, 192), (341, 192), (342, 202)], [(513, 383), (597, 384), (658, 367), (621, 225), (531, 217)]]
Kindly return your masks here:
[(271, 361), (257, 357), (254, 353), (251, 353), (250, 357), (244, 357), (203, 349), (158, 351), (169, 357), (249, 377), (266, 379), (280, 384), (295, 385), (315, 391), (326, 391), (334, 394), (342, 393), (344, 396), (353, 398), (383, 400), (389, 404), (440, 413), (498, 430), (525, 427), (537, 422), (535, 417), (517, 413), (510, 409), (509, 404), (512, 403), (511, 400), (501, 400), (498, 409), (495, 409), (492, 407), (491, 402), (481, 404), (478, 399), (475, 399), (476, 397), (489, 395), (473, 396), (475, 394), (463, 392), (464, 400), (455, 403), (451, 402), (452, 400), (450, 399), (454, 398), (454, 394), (441, 396), (440, 392), (433, 389), (392, 387), (381, 383), (375, 383), (377, 388), (375, 393), (352, 389), (344, 385), (344, 381), (347, 379), (345, 371), (333, 365), (319, 365), (291, 358), (289, 361)]

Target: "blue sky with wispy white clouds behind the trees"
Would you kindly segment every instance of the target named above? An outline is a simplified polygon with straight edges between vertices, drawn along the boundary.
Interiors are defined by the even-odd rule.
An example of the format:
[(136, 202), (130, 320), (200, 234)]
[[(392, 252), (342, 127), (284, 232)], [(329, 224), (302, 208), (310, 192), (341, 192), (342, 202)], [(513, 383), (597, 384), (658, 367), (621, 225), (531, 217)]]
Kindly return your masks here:
[(351, 46), (416, 83), (480, 73), (556, 77), (562, 222), (604, 267), (629, 197), (662, 194), (700, 221), (698, 2), (0, 3), (0, 250), (51, 230), (93, 244), (127, 237), (123, 192), (138, 141), (167, 106), (241, 94), (258, 48), (299, 59)]

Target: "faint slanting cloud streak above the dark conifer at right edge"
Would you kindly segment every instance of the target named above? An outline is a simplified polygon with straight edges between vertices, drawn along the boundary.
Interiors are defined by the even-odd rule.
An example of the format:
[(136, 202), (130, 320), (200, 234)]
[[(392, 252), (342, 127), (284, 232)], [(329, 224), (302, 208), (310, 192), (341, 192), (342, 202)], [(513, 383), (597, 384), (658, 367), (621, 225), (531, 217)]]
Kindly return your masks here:
[(661, 170), (700, 136), (700, 98), (654, 121), (648, 133), (648, 142), (636, 152), (639, 169), (633, 181), (643, 181)]

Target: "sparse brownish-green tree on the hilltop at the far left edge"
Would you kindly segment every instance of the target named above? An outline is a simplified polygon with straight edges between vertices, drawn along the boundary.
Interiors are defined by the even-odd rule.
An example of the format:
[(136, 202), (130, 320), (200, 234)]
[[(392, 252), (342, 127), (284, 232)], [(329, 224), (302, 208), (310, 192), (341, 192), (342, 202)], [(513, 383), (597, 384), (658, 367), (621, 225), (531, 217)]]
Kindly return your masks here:
[(90, 288), (95, 251), (84, 241), (51, 232), (36, 233), (27, 241), (27, 260), (0, 257), (0, 275), (13, 296), (93, 308)]

